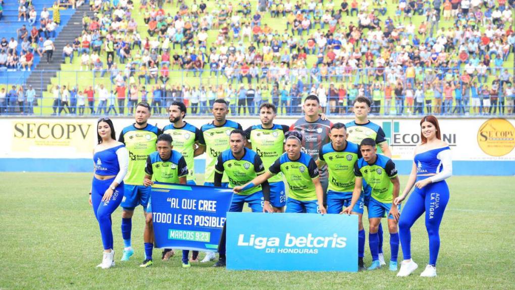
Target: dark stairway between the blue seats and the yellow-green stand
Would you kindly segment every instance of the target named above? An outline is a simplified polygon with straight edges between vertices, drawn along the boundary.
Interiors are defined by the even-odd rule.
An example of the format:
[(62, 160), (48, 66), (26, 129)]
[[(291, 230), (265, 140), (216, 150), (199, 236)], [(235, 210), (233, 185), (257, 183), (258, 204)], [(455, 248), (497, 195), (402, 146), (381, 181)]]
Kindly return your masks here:
[(84, 4), (80, 7), (77, 7), (75, 10), (75, 14), (72, 15), (68, 24), (63, 27), (62, 31), (59, 33), (59, 36), (54, 41), (54, 46), (56, 49), (54, 50), (53, 60), (50, 63), (46, 63), (46, 56), (43, 55), (40, 63), (35, 67), (32, 74), (29, 76), (26, 82), (26, 86), (32, 85), (39, 96), (42, 95), (43, 91), (46, 91), (48, 84), (50, 84), (50, 79), (57, 75), (57, 71), (61, 69), (62, 62), (62, 50), (63, 47), (66, 46), (67, 43), (70, 45), (73, 43), (76, 37), (79, 37), (82, 32), (82, 17), (84, 13), (87, 13), (89, 16), (93, 16), (93, 12), (90, 11), (89, 5)]

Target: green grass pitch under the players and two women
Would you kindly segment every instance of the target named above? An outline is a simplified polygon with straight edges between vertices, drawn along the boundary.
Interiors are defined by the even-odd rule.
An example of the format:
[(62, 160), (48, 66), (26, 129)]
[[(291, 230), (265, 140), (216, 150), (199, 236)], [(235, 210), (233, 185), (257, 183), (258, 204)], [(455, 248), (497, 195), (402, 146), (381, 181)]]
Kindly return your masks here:
[[(406, 178), (401, 178), (401, 189)], [(0, 289), (509, 289), (515, 279), (513, 177), (450, 178), (451, 200), (440, 228), (438, 277), (432, 279), (418, 276), (428, 259), (423, 218), (412, 231), (413, 258), (419, 269), (417, 275), (403, 279), (387, 267), (358, 273), (267, 272), (193, 263), (184, 269), (180, 251), (162, 262), (159, 249), (153, 255), (156, 263), (140, 268), (144, 255), (141, 207), (133, 218), (133, 258), (118, 262), (123, 242), (122, 211), (117, 209), (113, 214), (116, 266), (101, 270), (95, 268), (102, 255), (100, 233), (88, 204), (91, 174), (2, 173), (0, 184)], [(385, 259), (389, 259), (388, 241), (385, 235)], [(365, 263), (370, 265), (368, 239), (365, 249)]]

